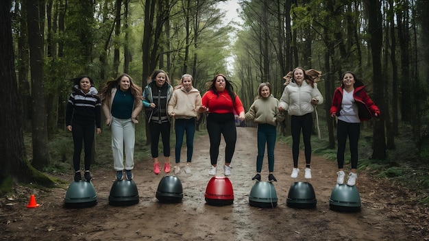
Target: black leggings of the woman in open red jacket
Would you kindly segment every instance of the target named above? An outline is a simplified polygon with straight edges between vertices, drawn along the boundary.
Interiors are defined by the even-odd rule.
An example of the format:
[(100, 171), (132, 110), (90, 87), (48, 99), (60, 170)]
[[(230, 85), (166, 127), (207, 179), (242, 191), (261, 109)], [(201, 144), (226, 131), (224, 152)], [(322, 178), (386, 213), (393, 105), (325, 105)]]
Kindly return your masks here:
[(338, 120), (336, 123), (336, 138), (338, 139), (338, 151), (336, 152), (336, 160), (338, 168), (344, 167), (344, 152), (345, 142), (349, 136), (350, 145), (350, 162), (352, 162), (352, 169), (358, 167), (358, 142), (360, 136), (360, 123), (347, 123)]

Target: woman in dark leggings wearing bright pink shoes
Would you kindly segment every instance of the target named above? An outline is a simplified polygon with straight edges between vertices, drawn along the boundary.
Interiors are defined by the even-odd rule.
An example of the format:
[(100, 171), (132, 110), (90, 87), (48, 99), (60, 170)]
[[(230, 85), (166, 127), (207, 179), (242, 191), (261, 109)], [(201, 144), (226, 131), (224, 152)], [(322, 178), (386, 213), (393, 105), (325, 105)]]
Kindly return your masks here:
[(151, 155), (154, 158), (154, 173), (160, 174), (158, 161), (158, 142), (160, 134), (164, 151), (164, 172), (170, 173), (170, 128), (171, 119), (167, 114), (167, 105), (173, 95), (173, 87), (167, 73), (162, 70), (154, 71), (147, 80), (143, 91), (143, 105), (146, 109), (147, 122), (151, 134)]

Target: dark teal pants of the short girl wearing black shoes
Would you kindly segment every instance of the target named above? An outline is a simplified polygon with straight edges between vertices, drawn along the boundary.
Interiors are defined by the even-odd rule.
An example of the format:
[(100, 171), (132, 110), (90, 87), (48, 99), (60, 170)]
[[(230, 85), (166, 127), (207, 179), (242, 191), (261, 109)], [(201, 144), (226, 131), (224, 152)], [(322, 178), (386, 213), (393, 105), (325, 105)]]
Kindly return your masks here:
[(265, 155), (265, 143), (268, 152), (268, 170), (274, 171), (274, 147), (277, 133), (275, 126), (269, 124), (258, 124), (258, 157), (256, 157), (256, 173), (262, 170), (262, 162)]

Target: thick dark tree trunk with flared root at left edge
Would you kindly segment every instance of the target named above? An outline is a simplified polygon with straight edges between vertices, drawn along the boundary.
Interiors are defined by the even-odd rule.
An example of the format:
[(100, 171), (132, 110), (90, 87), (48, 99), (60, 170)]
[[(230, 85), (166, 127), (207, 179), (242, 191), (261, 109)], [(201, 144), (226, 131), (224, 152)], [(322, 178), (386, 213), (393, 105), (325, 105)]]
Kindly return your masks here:
[(12, 180), (52, 187), (53, 181), (34, 170), (26, 157), (22, 129), (23, 115), (20, 105), (17, 104), (19, 96), (9, 11), (10, 1), (0, 1), (0, 81), (4, 90), (3, 94), (0, 94), (0, 183)]

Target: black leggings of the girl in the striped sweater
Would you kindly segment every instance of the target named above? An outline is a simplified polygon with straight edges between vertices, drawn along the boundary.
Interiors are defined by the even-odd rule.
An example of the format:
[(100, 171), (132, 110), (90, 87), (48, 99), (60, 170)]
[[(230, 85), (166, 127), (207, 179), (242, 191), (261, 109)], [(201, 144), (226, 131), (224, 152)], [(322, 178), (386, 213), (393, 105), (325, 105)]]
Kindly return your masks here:
[(94, 123), (73, 123), (72, 125), (71, 133), (73, 134), (73, 143), (75, 144), (75, 149), (73, 153), (73, 166), (75, 168), (75, 171), (80, 170), (80, 153), (82, 153), (82, 142), (84, 144), (85, 151), (85, 170), (89, 170), (91, 166), (94, 131)]

